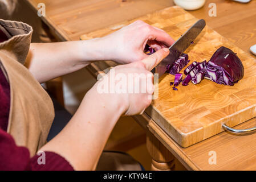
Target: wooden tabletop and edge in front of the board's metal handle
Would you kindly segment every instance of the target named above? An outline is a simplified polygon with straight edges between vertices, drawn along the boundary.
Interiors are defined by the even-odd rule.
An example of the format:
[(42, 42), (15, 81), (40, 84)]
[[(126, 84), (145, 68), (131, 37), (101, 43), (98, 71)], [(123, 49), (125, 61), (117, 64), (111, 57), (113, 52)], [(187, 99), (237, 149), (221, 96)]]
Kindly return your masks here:
[[(256, 126), (256, 119), (243, 122), (235, 129)], [(188, 148), (180, 147), (168, 134), (155, 123), (149, 121), (149, 130), (162, 144), (189, 170), (255, 170), (256, 169), (256, 133), (249, 135), (231, 135), (222, 132)], [(215, 152), (216, 163), (209, 163)]]

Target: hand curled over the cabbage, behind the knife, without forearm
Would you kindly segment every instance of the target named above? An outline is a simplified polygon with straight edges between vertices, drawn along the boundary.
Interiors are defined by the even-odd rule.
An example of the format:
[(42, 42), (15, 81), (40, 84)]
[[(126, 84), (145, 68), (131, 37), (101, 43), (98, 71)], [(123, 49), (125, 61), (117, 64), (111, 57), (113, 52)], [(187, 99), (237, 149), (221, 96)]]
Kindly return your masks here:
[(155, 51), (169, 47), (174, 40), (163, 30), (137, 20), (119, 31), (100, 38), (104, 48), (105, 60), (113, 60), (120, 64), (143, 60), (148, 57), (144, 53), (146, 44)]

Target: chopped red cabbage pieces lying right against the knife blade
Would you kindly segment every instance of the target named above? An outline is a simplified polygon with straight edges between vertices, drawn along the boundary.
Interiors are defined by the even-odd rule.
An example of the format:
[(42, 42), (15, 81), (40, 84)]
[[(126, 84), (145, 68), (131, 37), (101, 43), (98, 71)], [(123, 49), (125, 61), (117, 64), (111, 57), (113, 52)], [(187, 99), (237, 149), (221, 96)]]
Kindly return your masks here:
[(183, 69), (188, 63), (188, 55), (186, 53), (182, 53), (181, 56), (174, 61), (172, 67), (170, 67), (170, 64), (166, 65), (167, 72), (175, 75), (176, 73), (179, 73), (181, 69)]

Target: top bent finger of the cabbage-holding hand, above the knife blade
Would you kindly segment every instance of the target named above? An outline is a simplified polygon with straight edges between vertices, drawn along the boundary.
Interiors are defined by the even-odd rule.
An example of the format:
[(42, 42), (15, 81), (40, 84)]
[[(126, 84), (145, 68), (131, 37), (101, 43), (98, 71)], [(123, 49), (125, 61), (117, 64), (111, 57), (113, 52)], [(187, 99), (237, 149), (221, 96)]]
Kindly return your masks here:
[(152, 30), (149, 33), (149, 40), (156, 40), (158, 42), (162, 42), (168, 47), (172, 46), (172, 44), (175, 42), (169, 34), (167, 34), (163, 30), (159, 30), (159, 28), (156, 27), (152, 27)]

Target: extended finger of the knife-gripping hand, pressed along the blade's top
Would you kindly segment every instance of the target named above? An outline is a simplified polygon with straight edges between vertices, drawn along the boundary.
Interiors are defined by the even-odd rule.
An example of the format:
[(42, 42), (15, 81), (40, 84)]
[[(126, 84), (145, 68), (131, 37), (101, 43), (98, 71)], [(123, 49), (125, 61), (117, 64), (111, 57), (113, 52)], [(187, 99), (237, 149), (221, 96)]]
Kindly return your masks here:
[(159, 51), (148, 56), (146, 59), (141, 60), (141, 62), (145, 65), (145, 68), (148, 71), (151, 71), (153, 68), (156, 67), (157, 64), (160, 63), (162, 59), (164, 59), (169, 54), (169, 52), (170, 51), (168, 48), (162, 48)]

